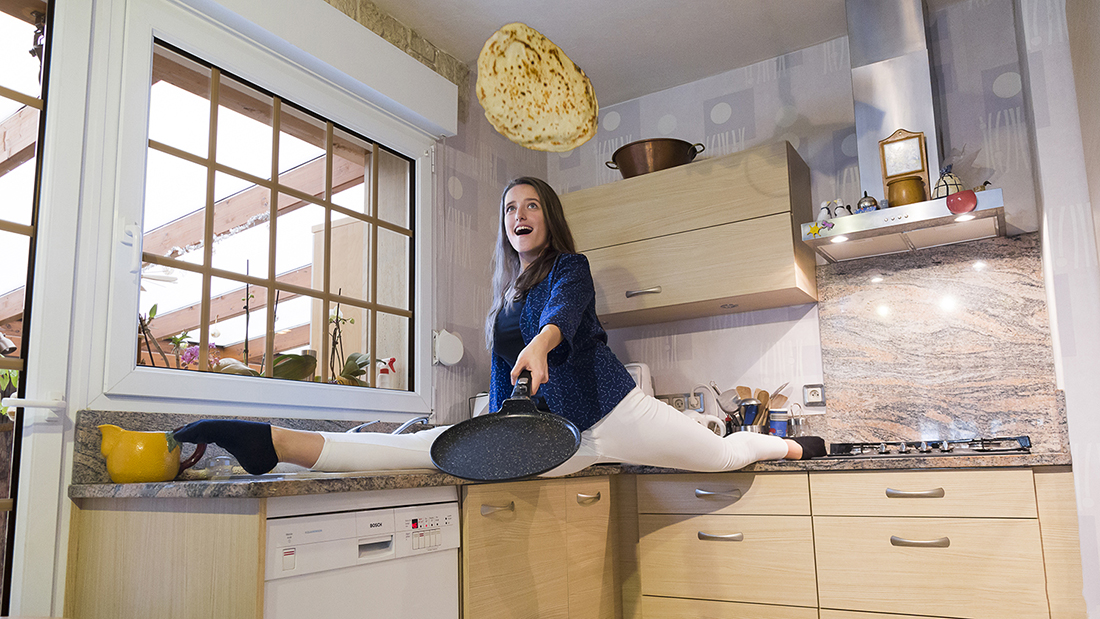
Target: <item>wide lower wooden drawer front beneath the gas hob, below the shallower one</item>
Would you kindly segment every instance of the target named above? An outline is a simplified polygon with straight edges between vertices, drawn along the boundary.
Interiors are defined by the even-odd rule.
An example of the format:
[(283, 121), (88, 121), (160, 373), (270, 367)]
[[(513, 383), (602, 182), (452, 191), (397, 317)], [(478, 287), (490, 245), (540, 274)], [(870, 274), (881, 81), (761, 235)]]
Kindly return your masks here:
[(822, 608), (1048, 617), (1037, 520), (815, 516), (814, 543)]

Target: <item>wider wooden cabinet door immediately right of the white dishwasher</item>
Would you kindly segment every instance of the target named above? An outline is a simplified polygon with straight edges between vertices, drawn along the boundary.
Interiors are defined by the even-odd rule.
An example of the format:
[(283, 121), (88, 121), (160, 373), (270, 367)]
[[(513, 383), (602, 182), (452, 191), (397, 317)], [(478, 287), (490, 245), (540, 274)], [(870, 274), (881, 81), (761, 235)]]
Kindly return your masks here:
[(465, 486), (463, 617), (565, 619), (565, 480)]

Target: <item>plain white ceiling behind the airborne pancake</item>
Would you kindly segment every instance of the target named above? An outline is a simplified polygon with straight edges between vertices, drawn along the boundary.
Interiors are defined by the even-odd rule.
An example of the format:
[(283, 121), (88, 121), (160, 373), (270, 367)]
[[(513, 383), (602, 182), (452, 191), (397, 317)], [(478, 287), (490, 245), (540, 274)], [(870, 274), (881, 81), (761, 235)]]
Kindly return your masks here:
[(476, 68), (485, 40), (524, 22), (592, 79), (601, 106), (844, 36), (844, 0), (373, 0)]

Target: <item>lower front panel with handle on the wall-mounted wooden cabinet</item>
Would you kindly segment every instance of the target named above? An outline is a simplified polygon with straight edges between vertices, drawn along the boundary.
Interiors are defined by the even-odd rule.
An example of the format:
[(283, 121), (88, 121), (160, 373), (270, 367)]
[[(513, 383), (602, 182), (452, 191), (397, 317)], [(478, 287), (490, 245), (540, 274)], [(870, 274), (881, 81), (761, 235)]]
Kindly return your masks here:
[[(791, 225), (791, 214), (781, 213), (585, 252), (596, 281), (596, 313), (793, 287)], [(632, 294), (658, 286), (660, 292)]]

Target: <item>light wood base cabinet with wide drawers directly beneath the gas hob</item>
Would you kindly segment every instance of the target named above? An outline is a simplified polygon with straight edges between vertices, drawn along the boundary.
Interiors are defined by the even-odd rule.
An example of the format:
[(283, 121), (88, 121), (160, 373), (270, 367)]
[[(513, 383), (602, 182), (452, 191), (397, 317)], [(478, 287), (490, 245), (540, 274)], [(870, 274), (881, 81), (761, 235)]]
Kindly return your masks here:
[(1030, 469), (812, 473), (823, 609), (1049, 617)]

